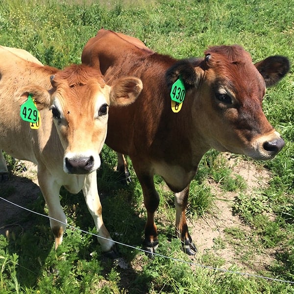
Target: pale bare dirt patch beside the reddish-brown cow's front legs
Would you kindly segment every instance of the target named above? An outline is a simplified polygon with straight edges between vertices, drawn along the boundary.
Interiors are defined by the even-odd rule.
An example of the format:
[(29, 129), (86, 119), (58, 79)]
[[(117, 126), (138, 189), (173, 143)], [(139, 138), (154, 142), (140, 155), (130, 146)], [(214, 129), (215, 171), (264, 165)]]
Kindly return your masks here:
[[(270, 180), (269, 171), (258, 169), (254, 164), (229, 153), (223, 153), (220, 156), (225, 156), (228, 159), (228, 165), (233, 174), (239, 174), (245, 179), (247, 184), (245, 194), (250, 195), (254, 189), (268, 185)], [(225, 260), (224, 268), (226, 269), (232, 265), (245, 268), (249, 272), (265, 269), (273, 260), (270, 250), (262, 253), (252, 253), (252, 256), (245, 263), (244, 260), (238, 258), (238, 255), (242, 255), (243, 245), (232, 245), (225, 241), (226, 233), (224, 230), (227, 228), (237, 227), (245, 235), (249, 235), (251, 231), (251, 228), (245, 225), (238, 216), (233, 215), (232, 206), (237, 193), (224, 193), (216, 183), (210, 183), (210, 186), (212, 193), (217, 196), (214, 212), (194, 223), (188, 222), (190, 234), (196, 242), (198, 252), (201, 254), (211, 252), (223, 258)]]

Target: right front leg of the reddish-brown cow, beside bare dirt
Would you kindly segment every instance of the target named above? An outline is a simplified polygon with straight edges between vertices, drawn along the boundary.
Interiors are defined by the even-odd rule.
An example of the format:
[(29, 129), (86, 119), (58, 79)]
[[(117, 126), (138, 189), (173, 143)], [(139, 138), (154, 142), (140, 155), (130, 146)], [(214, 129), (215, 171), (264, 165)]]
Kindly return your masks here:
[(181, 239), (183, 250), (188, 255), (194, 255), (197, 252), (192, 238), (188, 232), (186, 222), (186, 207), (188, 204), (190, 184), (181, 192), (174, 193), (174, 203), (176, 208), (175, 227), (178, 237)]

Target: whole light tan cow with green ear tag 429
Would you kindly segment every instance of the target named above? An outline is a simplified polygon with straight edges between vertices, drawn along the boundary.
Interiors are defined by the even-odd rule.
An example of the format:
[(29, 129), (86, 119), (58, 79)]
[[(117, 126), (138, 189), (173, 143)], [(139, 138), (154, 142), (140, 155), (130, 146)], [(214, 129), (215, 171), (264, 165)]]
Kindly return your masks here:
[[(59, 200), (59, 190), (64, 186), (74, 194), (83, 191), (98, 235), (108, 239), (98, 238), (102, 251), (116, 254), (102, 220), (96, 170), (106, 137), (108, 106), (127, 105), (141, 90), (138, 78), (118, 79), (109, 87), (98, 70), (85, 65), (59, 71), (36, 62), (24, 50), (0, 48), (0, 149), (38, 165), (55, 248), (66, 229)], [(39, 110), (41, 122), (35, 125), (20, 116), (29, 94)], [(22, 110), (23, 115), (28, 110)], [(32, 129), (31, 125), (39, 128)], [(7, 172), (1, 152), (0, 172)]]

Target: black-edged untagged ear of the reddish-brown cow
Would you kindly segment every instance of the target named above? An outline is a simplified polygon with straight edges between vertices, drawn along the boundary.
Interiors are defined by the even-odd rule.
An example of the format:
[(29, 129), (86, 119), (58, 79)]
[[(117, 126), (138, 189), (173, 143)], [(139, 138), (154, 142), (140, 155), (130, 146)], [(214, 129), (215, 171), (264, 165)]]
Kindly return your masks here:
[(254, 65), (263, 76), (267, 87), (275, 85), (290, 69), (289, 59), (280, 55), (270, 56)]

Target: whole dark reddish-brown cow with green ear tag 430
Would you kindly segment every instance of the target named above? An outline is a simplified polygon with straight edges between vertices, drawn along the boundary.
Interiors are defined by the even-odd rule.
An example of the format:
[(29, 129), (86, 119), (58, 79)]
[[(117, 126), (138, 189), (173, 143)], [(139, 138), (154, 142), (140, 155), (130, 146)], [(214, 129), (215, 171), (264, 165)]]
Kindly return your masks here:
[[(194, 254), (185, 209), (204, 153), (215, 148), (265, 160), (284, 146), (262, 111), (262, 100), (266, 86), (288, 72), (288, 59), (271, 56), (254, 65), (249, 53), (237, 45), (204, 53), (205, 58), (175, 60), (137, 39), (104, 29), (82, 53), (82, 62), (100, 69), (109, 85), (126, 75), (143, 82), (142, 93), (125, 112), (110, 109), (105, 142), (132, 160), (147, 209), (144, 245), (151, 253), (158, 245), (154, 174), (161, 175), (175, 193), (177, 233), (184, 250)], [(123, 170), (122, 154), (118, 169)]]

